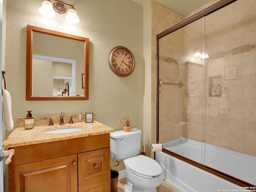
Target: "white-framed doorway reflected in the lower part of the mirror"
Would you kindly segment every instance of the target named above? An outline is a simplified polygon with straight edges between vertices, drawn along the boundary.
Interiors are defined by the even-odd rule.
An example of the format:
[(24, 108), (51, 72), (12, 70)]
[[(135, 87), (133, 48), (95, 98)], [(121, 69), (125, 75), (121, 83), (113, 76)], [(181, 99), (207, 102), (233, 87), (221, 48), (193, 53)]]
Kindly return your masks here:
[(32, 95), (82, 95), (82, 87), (76, 92), (76, 60), (33, 55), (32, 69)]

